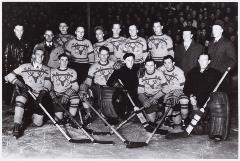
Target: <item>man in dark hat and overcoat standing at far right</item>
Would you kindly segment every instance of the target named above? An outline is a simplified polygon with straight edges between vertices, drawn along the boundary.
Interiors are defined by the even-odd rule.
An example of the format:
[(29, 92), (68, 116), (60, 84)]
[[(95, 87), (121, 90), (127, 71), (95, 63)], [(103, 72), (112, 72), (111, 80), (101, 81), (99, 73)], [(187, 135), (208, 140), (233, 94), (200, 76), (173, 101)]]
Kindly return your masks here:
[(224, 22), (216, 20), (212, 26), (214, 40), (209, 43), (208, 54), (212, 61), (210, 67), (224, 73), (228, 67), (236, 64), (236, 53), (230, 40), (223, 37)]

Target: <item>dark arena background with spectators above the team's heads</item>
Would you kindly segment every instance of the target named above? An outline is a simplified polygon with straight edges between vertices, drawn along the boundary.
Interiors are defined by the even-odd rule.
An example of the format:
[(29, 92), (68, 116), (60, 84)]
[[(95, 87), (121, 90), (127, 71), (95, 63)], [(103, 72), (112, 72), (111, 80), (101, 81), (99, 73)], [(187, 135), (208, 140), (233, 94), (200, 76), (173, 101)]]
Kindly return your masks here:
[(161, 20), (163, 33), (173, 39), (174, 46), (182, 42), (181, 31), (185, 26), (193, 26), (196, 31), (194, 39), (207, 45), (211, 39), (211, 26), (216, 19), (222, 19), (225, 23), (224, 36), (236, 48), (238, 44), (236, 2), (5, 2), (2, 17), (3, 46), (11, 38), (16, 24), (23, 24), (25, 36), (33, 45), (42, 41), (46, 29), (53, 30), (54, 34), (59, 33), (58, 24), (61, 21), (69, 24), (69, 33), (73, 35), (77, 26), (84, 26), (88, 29), (86, 31), (90, 31), (85, 33), (85, 37), (94, 43), (94, 27), (103, 26), (108, 38), (114, 22), (122, 25), (123, 36), (129, 37), (129, 25), (136, 24), (138, 35), (147, 39), (153, 34), (152, 21), (155, 18)]

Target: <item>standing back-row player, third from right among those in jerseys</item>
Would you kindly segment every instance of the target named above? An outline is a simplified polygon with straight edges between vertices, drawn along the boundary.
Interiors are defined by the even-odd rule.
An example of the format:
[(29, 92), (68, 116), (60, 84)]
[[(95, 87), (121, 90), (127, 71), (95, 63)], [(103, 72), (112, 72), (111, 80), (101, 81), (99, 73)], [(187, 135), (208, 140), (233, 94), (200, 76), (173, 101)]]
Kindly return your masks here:
[(123, 47), (126, 41), (126, 38), (120, 36), (121, 25), (119, 23), (114, 23), (112, 27), (113, 36), (107, 39), (107, 42), (113, 45), (114, 56), (118, 62), (123, 63)]

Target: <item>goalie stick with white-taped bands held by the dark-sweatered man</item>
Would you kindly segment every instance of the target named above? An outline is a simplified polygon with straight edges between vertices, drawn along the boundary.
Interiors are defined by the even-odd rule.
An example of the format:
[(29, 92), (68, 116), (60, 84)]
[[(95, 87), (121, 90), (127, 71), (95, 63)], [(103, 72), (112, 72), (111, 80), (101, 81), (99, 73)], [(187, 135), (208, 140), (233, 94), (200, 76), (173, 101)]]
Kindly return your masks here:
[[(224, 78), (226, 77), (226, 75), (228, 74), (228, 72), (231, 70), (230, 67), (227, 68), (227, 70), (224, 72), (222, 78), (219, 80), (218, 84), (216, 85), (216, 87), (213, 89), (213, 92), (216, 92), (218, 87), (221, 85), (222, 81), (224, 80)], [(204, 113), (204, 109), (207, 107), (207, 103), (210, 100), (210, 96), (208, 97), (207, 101), (205, 102), (205, 104), (203, 105), (202, 108), (200, 108), (199, 112), (200, 114), (195, 114), (193, 116), (193, 119), (191, 121), (191, 123), (188, 125), (188, 127), (186, 128), (187, 135), (190, 135), (192, 130), (194, 129), (194, 127), (197, 125), (198, 121), (201, 119), (201, 115)]]

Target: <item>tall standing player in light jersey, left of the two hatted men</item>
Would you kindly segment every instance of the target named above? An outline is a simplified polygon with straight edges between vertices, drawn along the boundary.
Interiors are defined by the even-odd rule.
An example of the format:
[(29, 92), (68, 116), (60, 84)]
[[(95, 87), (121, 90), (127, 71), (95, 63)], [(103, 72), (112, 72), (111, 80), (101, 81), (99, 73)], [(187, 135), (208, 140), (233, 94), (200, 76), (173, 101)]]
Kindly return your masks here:
[(148, 47), (149, 52), (156, 62), (157, 68), (163, 65), (163, 57), (171, 55), (174, 57), (173, 41), (171, 37), (162, 33), (163, 26), (160, 21), (156, 20), (153, 23), (153, 31), (155, 35), (149, 37)]

